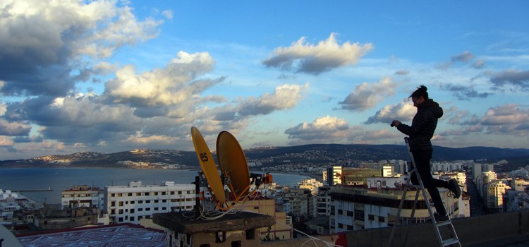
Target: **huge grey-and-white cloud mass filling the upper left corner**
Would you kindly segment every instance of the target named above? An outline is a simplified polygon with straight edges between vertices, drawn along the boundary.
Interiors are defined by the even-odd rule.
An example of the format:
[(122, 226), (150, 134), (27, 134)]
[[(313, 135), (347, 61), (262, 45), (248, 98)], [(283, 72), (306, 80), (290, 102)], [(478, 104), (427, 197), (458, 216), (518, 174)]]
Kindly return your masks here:
[[(0, 80), (8, 95), (63, 96), (125, 45), (152, 39), (162, 21), (138, 20), (128, 1), (0, 2)], [(90, 57), (93, 61), (90, 61)]]

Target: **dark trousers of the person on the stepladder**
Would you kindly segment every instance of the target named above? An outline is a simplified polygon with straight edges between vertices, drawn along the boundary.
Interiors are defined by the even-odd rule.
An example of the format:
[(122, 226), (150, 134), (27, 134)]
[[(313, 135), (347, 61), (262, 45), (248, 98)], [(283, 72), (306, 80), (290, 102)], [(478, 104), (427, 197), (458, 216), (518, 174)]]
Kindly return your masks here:
[[(418, 150), (411, 152), (413, 154), (413, 160), (417, 165), (417, 171), (419, 172), (420, 179), (425, 185), (428, 193), (434, 201), (435, 210), (440, 215), (446, 215), (446, 209), (443, 205), (441, 195), (439, 195), (439, 189), (437, 187), (448, 188), (448, 182), (440, 179), (434, 179), (432, 172), (430, 171), (430, 159), (432, 159), (432, 150)], [(413, 164), (412, 169), (413, 169)], [(415, 173), (411, 176), (411, 182), (415, 185), (419, 184)]]

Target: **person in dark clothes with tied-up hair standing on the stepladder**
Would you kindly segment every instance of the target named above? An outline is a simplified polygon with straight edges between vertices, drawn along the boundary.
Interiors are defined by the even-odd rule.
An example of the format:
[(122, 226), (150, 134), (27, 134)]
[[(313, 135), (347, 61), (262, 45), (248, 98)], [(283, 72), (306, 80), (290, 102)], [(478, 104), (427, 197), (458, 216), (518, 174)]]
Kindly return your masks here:
[[(456, 179), (444, 181), (434, 179), (430, 171), (430, 159), (432, 159), (432, 139), (435, 128), (437, 127), (437, 119), (443, 116), (443, 109), (439, 107), (437, 102), (434, 102), (428, 97), (427, 88), (424, 85), (413, 92), (410, 97), (413, 101), (413, 106), (417, 107), (417, 114), (413, 117), (411, 126), (408, 126), (401, 121), (394, 120), (391, 122), (392, 127), (396, 127), (399, 131), (409, 136), (410, 152), (413, 155), (415, 165), (422, 179), (422, 183), (432, 197), (435, 206), (434, 218), (436, 222), (442, 222), (449, 219), (446, 209), (444, 208), (439, 189), (437, 187), (448, 188), (454, 193), (454, 198), (459, 198), (461, 195), (461, 188)], [(413, 165), (413, 163), (412, 163)], [(412, 168), (413, 169), (413, 168)], [(413, 173), (411, 182), (415, 185), (419, 184), (417, 176)]]

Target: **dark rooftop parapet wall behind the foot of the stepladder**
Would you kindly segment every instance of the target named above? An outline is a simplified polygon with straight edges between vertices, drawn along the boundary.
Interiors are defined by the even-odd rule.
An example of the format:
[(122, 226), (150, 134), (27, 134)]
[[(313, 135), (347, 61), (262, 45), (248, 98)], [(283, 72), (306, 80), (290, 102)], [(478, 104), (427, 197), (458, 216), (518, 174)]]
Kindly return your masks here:
[[(529, 243), (529, 210), (453, 219), (452, 223), (462, 246), (488, 247), (506, 246), (514, 242)], [(439, 229), (445, 234), (448, 232), (446, 226)], [(407, 238), (406, 233), (408, 234)], [(358, 247), (388, 246), (390, 234), (391, 227), (344, 233), (347, 240), (346, 245)], [(339, 241), (339, 234), (316, 237), (320, 240), (313, 241), (309, 237), (304, 237), (288, 241), (264, 242), (261, 243), (261, 246), (286, 247), (302, 246), (303, 244), (305, 246), (327, 246), (327, 243), (345, 245)], [(435, 246), (436, 243), (437, 237), (434, 226), (422, 223), (397, 227), (390, 246)]]

